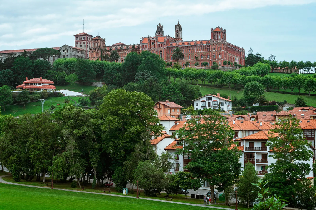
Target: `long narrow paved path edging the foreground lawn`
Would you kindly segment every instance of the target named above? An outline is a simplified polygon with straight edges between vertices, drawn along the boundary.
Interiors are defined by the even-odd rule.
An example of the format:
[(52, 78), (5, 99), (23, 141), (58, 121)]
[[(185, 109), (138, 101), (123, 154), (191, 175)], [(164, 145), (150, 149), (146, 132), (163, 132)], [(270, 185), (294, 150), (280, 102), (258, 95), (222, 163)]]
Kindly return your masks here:
[[(19, 186), (26, 186), (26, 187), (33, 187), (33, 188), (44, 188), (44, 189), (51, 189), (47, 187), (40, 187), (40, 186), (33, 186), (33, 185), (26, 185), (26, 184), (19, 184), (19, 183), (13, 183), (13, 182), (7, 182), (2, 179), (4, 176), (11, 176), (11, 175), (3, 175), (0, 176), (0, 182), (5, 184), (13, 184), (13, 185), (19, 185)], [(72, 190), (72, 189), (60, 189), (60, 188), (54, 188), (54, 190), (64, 190), (64, 191), (70, 191), (70, 192), (80, 192), (80, 193), (91, 193), (91, 194), (99, 194), (99, 195), (109, 195), (109, 196), (118, 196), (118, 197), (125, 197), (125, 198), (131, 198), (136, 199), (136, 197), (133, 196), (126, 196), (126, 195), (114, 195), (114, 194), (105, 194), (105, 193), (95, 193), (95, 192), (87, 192), (87, 191), (78, 191), (78, 190)], [(175, 202), (175, 201), (164, 201), (164, 200), (158, 200), (158, 199), (152, 199), (152, 198), (139, 198), (143, 200), (149, 200), (149, 201), (160, 201), (165, 203), (174, 203), (174, 204), (182, 204), (182, 205), (188, 205), (188, 206), (198, 206), (198, 207), (206, 207), (206, 208), (216, 208), (216, 209), (224, 209), (224, 210), (232, 210), (231, 208), (222, 208), (222, 207), (216, 207), (215, 204), (212, 204), (210, 206), (204, 206), (203, 204), (192, 204), (192, 203), (181, 203), (181, 202)], [(201, 202), (203, 200), (201, 199)]]

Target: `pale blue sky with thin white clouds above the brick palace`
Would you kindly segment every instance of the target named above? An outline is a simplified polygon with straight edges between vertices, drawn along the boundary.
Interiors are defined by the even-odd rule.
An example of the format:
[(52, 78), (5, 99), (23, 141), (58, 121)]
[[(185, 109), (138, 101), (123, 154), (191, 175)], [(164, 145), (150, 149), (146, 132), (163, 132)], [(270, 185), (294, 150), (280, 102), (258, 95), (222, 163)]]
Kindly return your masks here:
[(0, 1), (0, 50), (74, 46), (83, 31), (106, 45), (138, 44), (154, 36), (159, 21), (185, 41), (210, 40), (211, 28), (226, 40), (266, 59), (316, 61), (316, 0), (14, 0)]

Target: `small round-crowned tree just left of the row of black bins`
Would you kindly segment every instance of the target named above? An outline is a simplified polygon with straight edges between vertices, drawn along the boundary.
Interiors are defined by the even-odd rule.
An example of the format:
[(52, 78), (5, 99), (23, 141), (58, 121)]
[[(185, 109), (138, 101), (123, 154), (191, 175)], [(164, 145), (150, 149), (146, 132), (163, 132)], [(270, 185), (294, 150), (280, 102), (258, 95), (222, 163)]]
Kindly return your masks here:
[(179, 186), (180, 189), (184, 189), (185, 191), (185, 198), (186, 198), (186, 190), (192, 189), (197, 190), (202, 186), (202, 180), (201, 179), (193, 179), (192, 173), (185, 172), (185, 171), (179, 171), (175, 177), (174, 182), (176, 185)]

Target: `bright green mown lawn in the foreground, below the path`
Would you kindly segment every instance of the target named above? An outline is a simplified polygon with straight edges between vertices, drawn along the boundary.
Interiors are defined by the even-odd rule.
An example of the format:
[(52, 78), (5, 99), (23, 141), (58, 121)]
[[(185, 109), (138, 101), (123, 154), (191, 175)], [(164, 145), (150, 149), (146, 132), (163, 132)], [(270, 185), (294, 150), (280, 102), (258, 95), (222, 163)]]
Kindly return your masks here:
[(202, 207), (181, 204), (31, 188), (3, 183), (0, 183), (0, 194), (1, 209), (202, 209)]

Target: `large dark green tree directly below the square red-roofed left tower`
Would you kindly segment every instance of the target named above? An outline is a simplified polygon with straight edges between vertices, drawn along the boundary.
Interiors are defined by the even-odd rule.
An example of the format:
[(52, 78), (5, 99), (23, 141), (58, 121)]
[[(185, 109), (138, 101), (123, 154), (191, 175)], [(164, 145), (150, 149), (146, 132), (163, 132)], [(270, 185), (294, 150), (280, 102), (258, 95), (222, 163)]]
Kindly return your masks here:
[(78, 76), (78, 81), (81, 83), (92, 83), (96, 76), (90, 60), (78, 59), (75, 66), (75, 73)]

